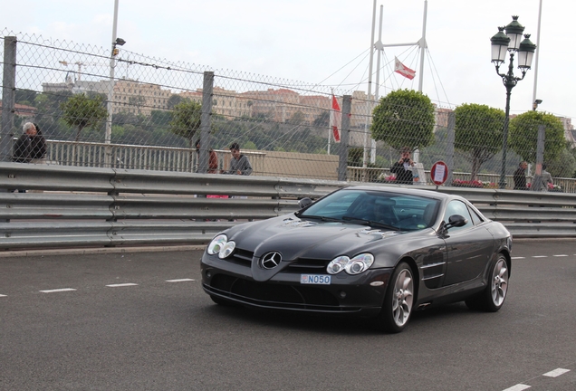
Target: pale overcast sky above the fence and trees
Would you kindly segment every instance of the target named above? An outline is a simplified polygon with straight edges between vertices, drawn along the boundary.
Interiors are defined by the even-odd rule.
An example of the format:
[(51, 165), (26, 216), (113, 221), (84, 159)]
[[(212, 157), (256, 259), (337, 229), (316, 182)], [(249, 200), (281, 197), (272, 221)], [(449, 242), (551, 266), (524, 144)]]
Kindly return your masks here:
[[(418, 41), (424, 0), (377, 4), (376, 39), (383, 5), (382, 42)], [(539, 4), (428, 0), (424, 93), (440, 106), (480, 103), (504, 110), (505, 89), (490, 62), (490, 38), (515, 14), (537, 43)], [(120, 0), (118, 36), (130, 52), (169, 61), (367, 91), (372, 6), (373, 0)], [(114, 0), (5, 1), (0, 28), (109, 48), (113, 11)], [(568, 46), (574, 11), (574, 2), (542, 0), (536, 98), (542, 100), (540, 110), (576, 120), (571, 73), (576, 52)], [(385, 55), (417, 67), (413, 48), (387, 48)], [(512, 92), (512, 113), (532, 109), (534, 64)], [(414, 81), (390, 75), (386, 67), (380, 73), (380, 95), (398, 86), (418, 89), (418, 74)]]

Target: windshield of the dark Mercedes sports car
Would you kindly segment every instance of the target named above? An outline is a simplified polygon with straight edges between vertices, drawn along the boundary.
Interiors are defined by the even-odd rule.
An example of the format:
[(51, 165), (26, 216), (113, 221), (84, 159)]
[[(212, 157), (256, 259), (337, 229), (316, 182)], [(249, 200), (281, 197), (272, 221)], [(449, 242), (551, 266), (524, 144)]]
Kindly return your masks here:
[(434, 224), (438, 206), (437, 199), (423, 196), (344, 189), (322, 198), (299, 217), (413, 231)]

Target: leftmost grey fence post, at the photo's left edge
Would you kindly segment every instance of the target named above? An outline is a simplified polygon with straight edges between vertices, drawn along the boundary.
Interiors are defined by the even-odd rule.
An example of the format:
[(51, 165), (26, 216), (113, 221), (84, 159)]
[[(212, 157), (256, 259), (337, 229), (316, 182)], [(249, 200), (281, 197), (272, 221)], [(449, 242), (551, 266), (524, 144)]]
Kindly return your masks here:
[(16, 91), (16, 37), (4, 37), (4, 77), (2, 81), (2, 132), (0, 161), (12, 160), (14, 138), (14, 101)]

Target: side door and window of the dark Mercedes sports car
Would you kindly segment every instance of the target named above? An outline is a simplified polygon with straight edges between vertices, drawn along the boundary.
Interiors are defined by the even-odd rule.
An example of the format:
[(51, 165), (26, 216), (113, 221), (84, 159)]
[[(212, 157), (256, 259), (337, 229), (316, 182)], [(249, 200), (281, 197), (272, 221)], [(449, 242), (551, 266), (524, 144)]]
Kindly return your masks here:
[(446, 205), (444, 221), (451, 215), (463, 215), (467, 223), (448, 229), (446, 242), (447, 266), (443, 285), (470, 281), (484, 271), (493, 252), (494, 238), (482, 221), (473, 219), (463, 201), (452, 200)]

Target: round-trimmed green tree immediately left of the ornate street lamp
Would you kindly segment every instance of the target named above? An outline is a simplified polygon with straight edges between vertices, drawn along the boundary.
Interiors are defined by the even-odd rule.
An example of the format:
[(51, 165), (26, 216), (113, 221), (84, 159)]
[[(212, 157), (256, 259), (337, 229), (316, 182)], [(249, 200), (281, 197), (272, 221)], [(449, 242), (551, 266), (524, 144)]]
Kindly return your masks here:
[(486, 105), (466, 103), (456, 107), (454, 147), (466, 152), (472, 163), (470, 180), (478, 178), (480, 167), (502, 149), (504, 111)]

